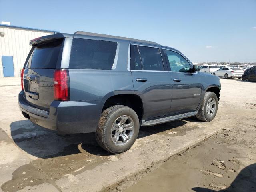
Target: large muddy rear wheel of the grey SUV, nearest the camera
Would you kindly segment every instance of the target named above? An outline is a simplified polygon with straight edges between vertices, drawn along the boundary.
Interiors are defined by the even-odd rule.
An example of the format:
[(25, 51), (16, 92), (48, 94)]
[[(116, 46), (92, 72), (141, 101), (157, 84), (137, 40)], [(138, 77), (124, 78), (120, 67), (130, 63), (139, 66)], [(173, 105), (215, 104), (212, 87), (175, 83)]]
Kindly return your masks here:
[(104, 150), (118, 154), (130, 149), (138, 137), (140, 123), (132, 108), (115, 105), (102, 112), (96, 141)]

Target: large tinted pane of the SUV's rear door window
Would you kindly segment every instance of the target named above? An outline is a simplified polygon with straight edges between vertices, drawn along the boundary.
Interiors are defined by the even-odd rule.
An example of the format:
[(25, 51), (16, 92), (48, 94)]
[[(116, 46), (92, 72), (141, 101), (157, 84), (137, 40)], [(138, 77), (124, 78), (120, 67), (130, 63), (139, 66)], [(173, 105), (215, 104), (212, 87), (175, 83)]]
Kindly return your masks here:
[(163, 71), (163, 60), (158, 48), (138, 46), (143, 70)]

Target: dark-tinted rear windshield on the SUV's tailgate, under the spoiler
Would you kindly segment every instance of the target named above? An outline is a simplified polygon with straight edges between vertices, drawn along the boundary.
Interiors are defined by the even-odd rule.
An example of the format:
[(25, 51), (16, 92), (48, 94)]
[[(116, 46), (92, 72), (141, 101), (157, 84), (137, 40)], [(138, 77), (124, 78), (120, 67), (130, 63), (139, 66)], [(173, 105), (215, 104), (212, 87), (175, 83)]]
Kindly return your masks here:
[(56, 68), (62, 41), (54, 40), (33, 46), (26, 68)]

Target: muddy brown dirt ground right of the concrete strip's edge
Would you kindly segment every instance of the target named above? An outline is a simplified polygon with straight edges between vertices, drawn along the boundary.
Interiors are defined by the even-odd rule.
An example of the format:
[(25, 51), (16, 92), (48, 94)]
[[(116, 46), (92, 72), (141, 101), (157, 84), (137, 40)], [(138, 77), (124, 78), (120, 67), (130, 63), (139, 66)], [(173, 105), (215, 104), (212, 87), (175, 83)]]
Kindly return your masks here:
[(218, 114), (228, 108), (229, 125), (168, 158), (125, 192), (256, 192), (256, 83), (221, 82)]

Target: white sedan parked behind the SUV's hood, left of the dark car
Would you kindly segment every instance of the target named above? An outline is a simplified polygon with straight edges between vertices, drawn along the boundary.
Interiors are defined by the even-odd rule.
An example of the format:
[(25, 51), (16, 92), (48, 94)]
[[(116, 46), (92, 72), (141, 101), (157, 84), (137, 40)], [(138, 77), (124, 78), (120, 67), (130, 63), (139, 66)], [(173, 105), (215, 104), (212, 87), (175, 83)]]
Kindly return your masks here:
[(222, 67), (212, 73), (213, 75), (224, 77), (226, 79), (237, 77), (238, 79), (242, 78), (244, 71), (237, 67)]

